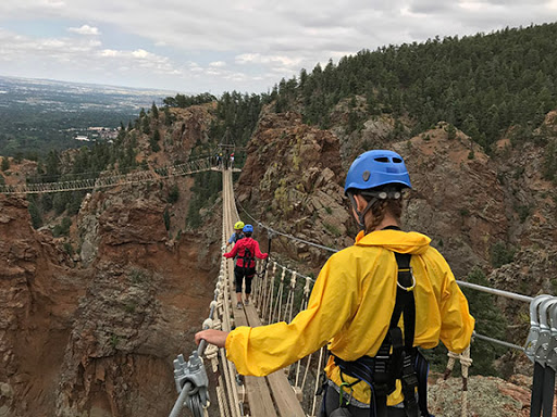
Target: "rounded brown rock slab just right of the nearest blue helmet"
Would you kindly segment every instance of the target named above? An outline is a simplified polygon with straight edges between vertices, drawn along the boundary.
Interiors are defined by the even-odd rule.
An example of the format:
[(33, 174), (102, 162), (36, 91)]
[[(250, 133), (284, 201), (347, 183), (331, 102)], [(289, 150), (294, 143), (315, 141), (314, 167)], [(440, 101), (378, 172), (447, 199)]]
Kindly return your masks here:
[(393, 149), (405, 159), (413, 188), (406, 228), (430, 236), (457, 277), (472, 265), (485, 267), (491, 248), (506, 241), (508, 231), (492, 160), (460, 132), (448, 139), (444, 124)]

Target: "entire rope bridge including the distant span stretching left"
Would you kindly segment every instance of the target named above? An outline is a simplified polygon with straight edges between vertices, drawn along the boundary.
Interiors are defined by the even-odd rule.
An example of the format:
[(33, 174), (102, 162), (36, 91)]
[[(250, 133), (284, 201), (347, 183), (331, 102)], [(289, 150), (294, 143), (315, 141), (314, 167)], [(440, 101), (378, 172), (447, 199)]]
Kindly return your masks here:
[[(33, 194), (63, 192), (74, 190), (103, 189), (127, 184), (159, 181), (165, 178), (190, 175), (207, 170), (222, 173), (223, 215), (222, 215), (222, 252), (225, 251), (227, 233), (239, 219), (236, 207), (232, 169), (212, 166), (210, 159), (190, 161), (185, 164), (141, 170), (132, 174), (106, 173), (96, 178), (75, 179), (60, 182), (37, 182), (25, 185), (3, 185), (0, 192), (7, 194)], [(234, 169), (239, 172), (239, 169)], [(244, 210), (244, 208), (242, 208)], [(337, 250), (298, 239), (258, 222), (245, 210), (245, 216), (255, 225), (267, 229), (270, 236), (282, 236), (304, 244), (336, 252)], [(524, 348), (507, 341), (497, 340), (474, 332), (475, 339), (523, 352), (534, 363), (531, 416), (553, 416), (555, 371), (557, 369), (557, 298), (539, 295), (531, 298), (494, 288), (487, 288), (457, 280), (460, 287), (530, 303), (530, 332)], [(277, 262), (258, 263), (258, 274), (253, 280), (252, 303), (243, 308), (234, 305), (234, 261), (222, 258), (214, 299), (210, 304), (209, 317), (203, 329), (214, 328), (230, 331), (236, 326), (257, 327), (277, 321), (289, 321), (307, 306), (313, 279), (293, 270)], [(472, 315), (474, 312), (471, 312)], [(472, 345), (473, 349), (473, 345)], [(207, 363), (203, 363), (205, 355)], [(468, 416), (467, 382), (468, 366), (471, 361), (469, 351), (457, 355), (449, 352), (445, 378), (448, 377), (455, 362), (460, 359), (462, 366), (463, 389), (461, 416)], [(214, 374), (216, 387), (213, 392), (220, 415), (226, 417), (264, 416), (264, 417), (313, 417), (319, 413), (321, 370), (325, 361), (325, 348), (278, 370), (268, 377), (243, 377), (237, 374), (233, 363), (226, 359), (224, 349), (207, 345), (201, 341), (198, 349), (186, 361), (182, 354), (174, 361), (174, 379), (178, 397), (170, 417), (183, 415), (188, 408), (195, 417), (208, 416), (209, 371)], [(210, 365), (210, 366), (209, 366)]]

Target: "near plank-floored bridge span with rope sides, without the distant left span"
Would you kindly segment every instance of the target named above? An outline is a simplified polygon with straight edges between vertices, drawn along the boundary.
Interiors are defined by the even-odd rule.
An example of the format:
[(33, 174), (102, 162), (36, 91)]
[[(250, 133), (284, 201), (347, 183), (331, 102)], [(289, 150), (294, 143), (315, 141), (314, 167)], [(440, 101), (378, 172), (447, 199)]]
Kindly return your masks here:
[[(233, 229), (234, 223), (239, 220), (239, 215), (234, 199), (232, 174), (223, 170), (222, 175), (222, 252), (224, 253), (228, 238), (227, 233)], [(244, 218), (250, 218), (250, 222), (259, 228), (267, 229), (270, 236), (282, 236), (330, 252), (337, 251), (275, 230), (260, 223), (243, 207), (242, 210), (244, 211)], [(313, 283), (312, 278), (276, 262), (271, 262), (269, 265), (265, 262), (259, 262), (259, 274), (255, 277), (252, 289), (253, 303), (245, 305), (242, 309), (233, 308), (235, 303), (233, 270), (234, 261), (223, 258), (214, 300), (211, 303), (211, 313), (203, 323), (203, 329), (214, 328), (230, 331), (235, 326), (255, 327), (277, 321), (289, 321), (299, 311), (307, 306)], [(557, 298), (550, 295), (531, 298), (466, 281), (457, 280), (457, 282), (462, 288), (470, 288), (475, 291), (530, 303), (531, 331), (528, 336), (525, 348), (476, 332), (474, 332), (474, 338), (525, 353), (535, 363), (537, 368), (543, 369), (542, 371), (539, 370), (542, 375), (539, 377), (539, 380), (543, 378), (548, 380), (552, 376), (553, 380), (555, 380), (555, 367), (557, 367)], [(546, 304), (543, 304), (543, 302)], [(550, 311), (552, 306), (555, 306), (555, 308)], [(471, 313), (473, 314), (473, 312)], [(549, 341), (552, 341), (552, 345), (549, 345)], [(552, 354), (552, 352), (554, 353)], [(218, 375), (218, 386), (215, 389), (221, 416), (314, 417), (319, 415), (321, 400), (318, 391), (321, 383), (321, 370), (324, 366), (324, 346), (286, 369), (276, 371), (268, 377), (256, 378), (237, 375), (234, 364), (226, 359), (224, 349), (216, 349), (212, 345), (207, 346), (205, 341), (201, 341), (197, 351), (189, 357), (189, 361), (186, 362), (182, 355), (178, 355), (177, 359), (174, 361), (176, 389), (180, 392), (180, 396), (170, 417), (178, 416), (184, 406), (188, 406), (191, 414), (196, 417), (208, 415), (208, 403), (202, 404), (202, 401), (198, 399), (196, 401), (197, 406), (191, 406), (191, 397), (199, 395), (197, 394), (199, 387), (194, 387), (191, 382), (196, 379), (196, 377), (193, 377), (193, 374), (197, 370), (191, 372), (190, 369), (197, 369), (195, 363), (203, 353), (210, 361), (210, 369)], [(554, 357), (555, 364), (552, 362)], [(450, 375), (458, 359), (461, 364), (463, 377), (461, 416), (465, 417), (469, 415), (467, 378), (468, 367), (471, 365), (470, 350), (465, 351), (460, 355), (451, 352), (448, 353), (444, 378), (446, 379)], [(199, 367), (199, 369), (201, 368)], [(202, 369), (205, 371), (205, 368)], [(534, 386), (535, 382), (534, 380)], [(548, 391), (552, 391), (550, 395)], [(543, 392), (543, 390), (541, 388), (535, 389), (533, 399), (539, 392)], [(542, 407), (545, 409), (544, 417), (553, 415), (553, 388), (545, 390), (545, 399), (540, 397), (540, 401), (533, 400), (532, 409), (534, 413), (537, 413), (537, 409), (541, 410)], [(539, 415), (541, 414), (532, 414), (532, 416)]]

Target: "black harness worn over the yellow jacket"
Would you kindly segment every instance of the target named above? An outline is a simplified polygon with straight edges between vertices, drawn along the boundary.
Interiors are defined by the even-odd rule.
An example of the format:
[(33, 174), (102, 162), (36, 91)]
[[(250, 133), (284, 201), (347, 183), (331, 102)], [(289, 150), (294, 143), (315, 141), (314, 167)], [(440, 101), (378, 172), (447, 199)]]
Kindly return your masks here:
[[(405, 412), (408, 417), (430, 417), (428, 412), (429, 364), (413, 346), (416, 330), (416, 303), (413, 287), (416, 279), (410, 268), (410, 254), (396, 253), (398, 282), (396, 302), (388, 332), (376, 355), (362, 356), (348, 362), (334, 356), (343, 374), (364, 381), (371, 389), (370, 416), (387, 416), (387, 395), (396, 389), (396, 380), (403, 386)], [(404, 337), (398, 327), (404, 317)], [(358, 381), (358, 382), (360, 382)], [(418, 389), (418, 401), (416, 390)], [(342, 395), (342, 393), (341, 393)]]

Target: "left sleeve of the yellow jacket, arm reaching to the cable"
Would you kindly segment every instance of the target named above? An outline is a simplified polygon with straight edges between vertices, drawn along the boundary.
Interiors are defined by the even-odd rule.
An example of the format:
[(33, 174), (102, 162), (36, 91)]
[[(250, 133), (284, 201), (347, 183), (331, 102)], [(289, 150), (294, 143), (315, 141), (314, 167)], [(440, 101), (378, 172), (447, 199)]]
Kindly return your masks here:
[(238, 327), (226, 338), (226, 357), (242, 375), (265, 376), (324, 345), (355, 314), (358, 285), (341, 253), (321, 269), (308, 308), (289, 324)]

